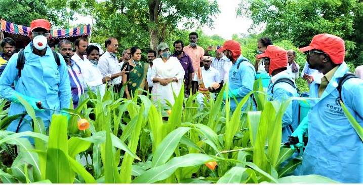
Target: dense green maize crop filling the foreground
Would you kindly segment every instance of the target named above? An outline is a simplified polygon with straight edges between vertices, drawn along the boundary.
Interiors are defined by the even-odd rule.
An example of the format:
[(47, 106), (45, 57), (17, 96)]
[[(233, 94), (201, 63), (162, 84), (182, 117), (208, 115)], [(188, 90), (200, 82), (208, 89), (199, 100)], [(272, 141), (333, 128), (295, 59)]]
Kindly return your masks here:
[[(223, 100), (226, 87), (216, 100), (205, 99), (204, 107), (196, 103), (196, 95), (184, 99), (184, 87), (175, 94), (174, 105), (151, 102), (150, 94), (137, 91), (130, 100), (112, 90), (106, 90), (102, 99), (89, 91), (77, 108), (67, 109), (82, 122), (77, 124), (77, 116), (54, 114), (49, 135), (31, 106), (20, 100), (34, 131), (6, 131), (19, 115), (6, 117), (7, 110), (2, 110), (1, 155), (11, 153), (13, 162), (2, 166), (0, 179), (4, 183), (334, 182), (318, 175), (288, 176), (301, 163), (290, 159), (295, 151), (281, 146), (281, 119), (291, 100), (267, 101), (256, 81), (250, 94), (255, 94), (258, 112), (241, 112), (242, 106), (252, 103), (249, 94), (232, 113), (229, 102), (234, 98)], [(5, 102), (1, 100), (0, 108)], [(34, 145), (25, 136), (34, 138)]]

